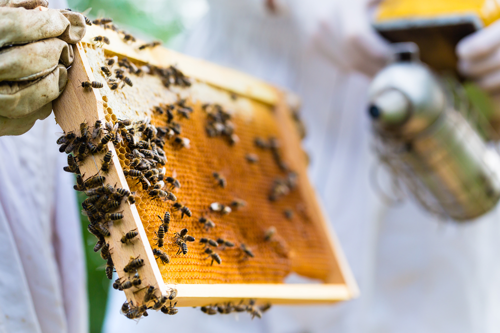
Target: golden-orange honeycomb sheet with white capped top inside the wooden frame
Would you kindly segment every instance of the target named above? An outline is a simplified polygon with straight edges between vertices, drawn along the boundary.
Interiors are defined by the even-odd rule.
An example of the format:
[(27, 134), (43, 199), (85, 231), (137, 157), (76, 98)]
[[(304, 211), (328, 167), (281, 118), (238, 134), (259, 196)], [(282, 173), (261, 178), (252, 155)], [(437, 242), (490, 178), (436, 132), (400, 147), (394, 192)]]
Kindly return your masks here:
[[(107, 53), (94, 45), (83, 44), (87, 59), (96, 80), (105, 81), (100, 70)], [(141, 63), (135, 63), (141, 66)], [(114, 69), (113, 67), (111, 69)], [(295, 272), (309, 278), (325, 280), (329, 274), (327, 265), (329, 247), (314, 227), (300, 192), (295, 189), (288, 195), (271, 202), (269, 191), (276, 178), (284, 178), (286, 173), (276, 164), (271, 152), (255, 146), (256, 137), (277, 137), (279, 131), (272, 108), (266, 104), (242, 96), (234, 96), (227, 91), (192, 80), (188, 88), (170, 86), (165, 88), (161, 80), (154, 76), (128, 74), (133, 86), (110, 90), (107, 85), (100, 89), (105, 119), (132, 119), (139, 121), (146, 116), (155, 126), (166, 125), (166, 115), (152, 112), (160, 103), (173, 103), (185, 98), (193, 108), (190, 119), (175, 115), (181, 125), (180, 136), (190, 140), (190, 148), (180, 148), (172, 141), (163, 147), (167, 163), (166, 176), (174, 176), (181, 184), (170, 190), (177, 202), (187, 206), (192, 217), (181, 219), (180, 211), (172, 209), (172, 201), (150, 199), (140, 183), (127, 178), (131, 191), (137, 196), (136, 208), (146, 231), (151, 248), (156, 248), (156, 235), (161, 224), (158, 216), (165, 211), (172, 215), (168, 233), (165, 233), (164, 247), (170, 256), (170, 263), (156, 260), (165, 283), (168, 284), (215, 284), (215, 283), (281, 283), (290, 273)], [(208, 137), (205, 131), (207, 114), (202, 109), (204, 103), (217, 103), (232, 114), (235, 133), (239, 142), (229, 145), (222, 137)], [(130, 153), (125, 144), (115, 146), (122, 168), (128, 168), (130, 161), (125, 157)], [(256, 154), (257, 163), (249, 163), (245, 156)], [(291, 166), (293, 169), (293, 166)], [(227, 181), (225, 188), (217, 185), (212, 173), (218, 172)], [(167, 184), (168, 186), (168, 184)], [(212, 212), (213, 202), (229, 205), (235, 199), (242, 199), (246, 206), (233, 209), (228, 215)], [(291, 210), (291, 218), (284, 212)], [(198, 218), (205, 216), (215, 223), (206, 230)], [(270, 241), (264, 241), (264, 234), (275, 227), (276, 233)], [(187, 243), (186, 255), (176, 255), (178, 246), (174, 244), (174, 234), (182, 228), (196, 238)], [(205, 237), (216, 240), (223, 238), (235, 243), (233, 248), (214, 248), (222, 263), (218, 265), (207, 258), (204, 244), (199, 239)], [(240, 249), (244, 243), (254, 254), (247, 257)]]

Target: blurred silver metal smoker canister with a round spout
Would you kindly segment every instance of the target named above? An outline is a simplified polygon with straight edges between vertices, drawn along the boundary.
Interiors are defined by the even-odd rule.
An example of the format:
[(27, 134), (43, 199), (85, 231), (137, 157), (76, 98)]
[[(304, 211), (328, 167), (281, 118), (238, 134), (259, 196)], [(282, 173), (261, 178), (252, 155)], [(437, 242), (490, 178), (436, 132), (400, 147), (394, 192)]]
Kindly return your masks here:
[[(500, 198), (500, 156), (453, 109), (449, 94), (419, 61), (394, 62), (369, 88), (369, 114), (386, 162), (429, 209), (467, 220)], [(381, 149), (380, 149), (381, 147)]]

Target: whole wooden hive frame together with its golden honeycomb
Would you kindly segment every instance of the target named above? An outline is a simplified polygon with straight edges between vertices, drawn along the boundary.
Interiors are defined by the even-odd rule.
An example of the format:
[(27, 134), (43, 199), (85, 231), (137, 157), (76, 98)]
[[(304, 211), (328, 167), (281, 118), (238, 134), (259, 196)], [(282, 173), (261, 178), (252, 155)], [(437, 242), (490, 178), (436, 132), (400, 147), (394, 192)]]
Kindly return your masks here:
[[(110, 44), (96, 47), (92, 42), (95, 35), (106, 35)], [(189, 147), (181, 148), (173, 138), (166, 140), (163, 147), (167, 159), (165, 176), (175, 177), (181, 184), (180, 188), (165, 190), (173, 192), (176, 203), (190, 209), (191, 217), (181, 218), (181, 213), (173, 209), (172, 201), (151, 198), (136, 179), (124, 176), (123, 171), (130, 166), (127, 158), (131, 158), (126, 142), (107, 143), (107, 149), (112, 152), (107, 173), (99, 171), (106, 150), (79, 164), (82, 174), (87, 175), (84, 178), (98, 172), (106, 176), (105, 184), (135, 192), (135, 204), (121, 203), (115, 212), (121, 211), (123, 219), (107, 224), (110, 235), (105, 237), (120, 282), (135, 274), (135, 270), (125, 270), (131, 259), (144, 260), (144, 266), (137, 270), (142, 283), (125, 290), (127, 299), (134, 305), (143, 304), (147, 286), (155, 287), (156, 297), (177, 289), (175, 301), (181, 307), (241, 299), (281, 304), (321, 303), (355, 295), (355, 282), (308, 183), (306, 158), (300, 150), (299, 135), (283, 94), (244, 74), (161, 47), (138, 51), (139, 41), (124, 43), (121, 38), (109, 29), (87, 27), (82, 42), (73, 47), (75, 57), (68, 71), (66, 89), (53, 105), (56, 120), (66, 132), (79, 128), (82, 121), (91, 125), (98, 119), (111, 123), (119, 119), (139, 122), (147, 117), (159, 128), (166, 125), (167, 118), (166, 114), (153, 111), (156, 106), (185, 100), (192, 108), (189, 119), (173, 111), (173, 120), (181, 127), (179, 136), (190, 140)], [(123, 59), (125, 54), (136, 67), (142, 66), (143, 72), (135, 75), (125, 70), (123, 75), (130, 78), (132, 86), (121, 80), (118, 88), (111, 90), (101, 66), (106, 65), (107, 58)], [(164, 68), (178, 64), (190, 77), (191, 85), (165, 87), (159, 76), (147, 73), (152, 67), (148, 69), (143, 65), (148, 63)], [(116, 68), (116, 64), (110, 68), (112, 78)], [(81, 87), (82, 81), (99, 81), (104, 86), (85, 89)], [(239, 138), (234, 145), (227, 137), (210, 137), (207, 133), (207, 112), (212, 111), (203, 105), (215, 104), (231, 115), (234, 133)], [(276, 179), (285, 179), (288, 173), (278, 165), (271, 149), (255, 145), (257, 137), (277, 138), (279, 155), (290, 166), (289, 170), (298, 175), (296, 187), (275, 201), (269, 200), (271, 187)], [(246, 158), (248, 154), (256, 155), (258, 161), (250, 163)], [(224, 188), (217, 184), (214, 172), (226, 179)], [(246, 205), (233, 208), (227, 215), (209, 209), (211, 203), (229, 205), (236, 199)], [(158, 216), (162, 217), (165, 211), (169, 211), (172, 218), (161, 250), (170, 257), (169, 264), (154, 258), (151, 251), (157, 247), (155, 232), (161, 224)], [(285, 216), (285, 211), (293, 213)], [(212, 220), (215, 227), (205, 229), (198, 222), (200, 217)], [(178, 246), (174, 242), (175, 233), (182, 228), (187, 228), (188, 234), (195, 237), (195, 242), (187, 243), (185, 255), (177, 254)], [(266, 241), (264, 234), (270, 228), (276, 233)], [(137, 237), (122, 244), (121, 237), (131, 230), (137, 231)], [(204, 252), (205, 245), (199, 243), (200, 238), (222, 238), (235, 246), (212, 248), (222, 260), (219, 265), (212, 263)], [(246, 256), (241, 244), (245, 244), (254, 257)], [(291, 272), (326, 284), (282, 284)]]

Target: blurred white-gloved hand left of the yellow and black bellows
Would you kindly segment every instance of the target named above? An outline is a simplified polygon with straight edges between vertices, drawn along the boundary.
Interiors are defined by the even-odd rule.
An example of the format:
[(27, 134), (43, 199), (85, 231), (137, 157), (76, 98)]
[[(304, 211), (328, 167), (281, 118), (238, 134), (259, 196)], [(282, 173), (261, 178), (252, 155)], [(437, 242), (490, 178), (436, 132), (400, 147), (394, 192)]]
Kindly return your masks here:
[(391, 57), (389, 43), (371, 27), (373, 1), (335, 0), (329, 16), (319, 23), (314, 36), (322, 53), (344, 70), (373, 76)]

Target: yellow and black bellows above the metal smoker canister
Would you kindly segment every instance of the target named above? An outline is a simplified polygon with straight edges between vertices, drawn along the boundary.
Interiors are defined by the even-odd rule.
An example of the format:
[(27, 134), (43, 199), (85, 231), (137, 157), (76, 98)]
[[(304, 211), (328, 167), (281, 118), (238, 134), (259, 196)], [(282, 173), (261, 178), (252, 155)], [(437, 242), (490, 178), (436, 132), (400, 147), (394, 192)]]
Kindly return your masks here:
[(416, 43), (434, 70), (456, 72), (456, 44), (498, 18), (496, 0), (383, 0), (374, 27), (391, 42)]

